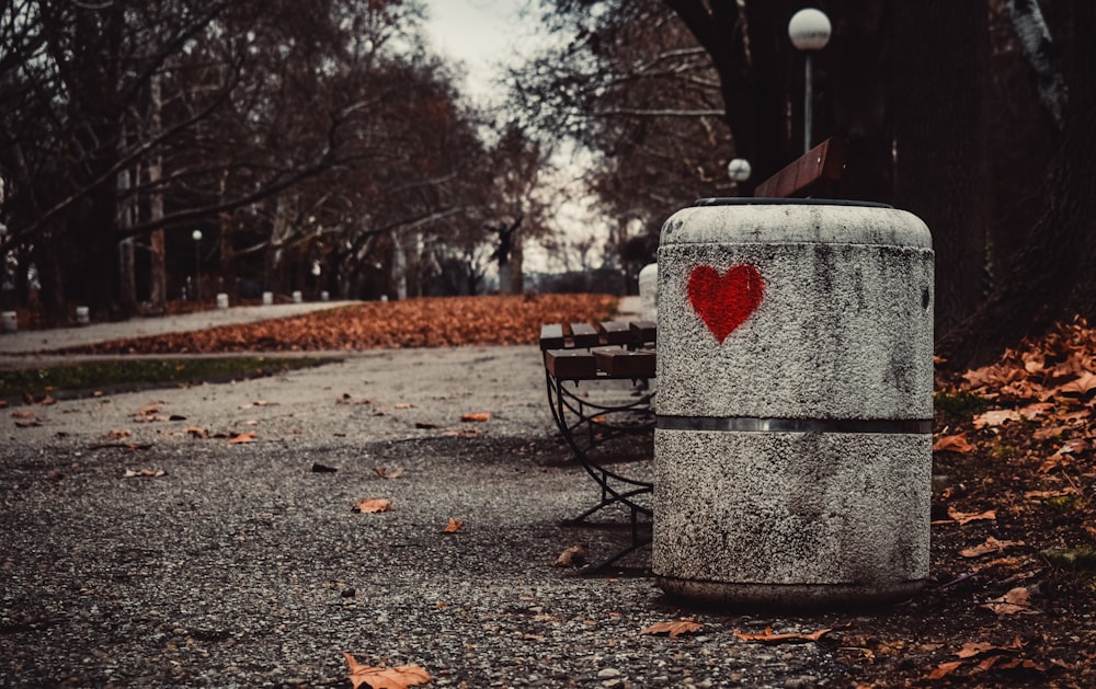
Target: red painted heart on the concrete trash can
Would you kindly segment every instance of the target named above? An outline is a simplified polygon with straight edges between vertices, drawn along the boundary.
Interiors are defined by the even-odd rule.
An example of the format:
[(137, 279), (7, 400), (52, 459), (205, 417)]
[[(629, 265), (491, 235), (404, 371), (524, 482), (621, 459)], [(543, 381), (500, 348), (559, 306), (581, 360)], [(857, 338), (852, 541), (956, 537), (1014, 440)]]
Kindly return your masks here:
[(761, 305), (765, 280), (749, 264), (732, 265), (720, 275), (698, 265), (688, 276), (688, 300), (720, 344)]

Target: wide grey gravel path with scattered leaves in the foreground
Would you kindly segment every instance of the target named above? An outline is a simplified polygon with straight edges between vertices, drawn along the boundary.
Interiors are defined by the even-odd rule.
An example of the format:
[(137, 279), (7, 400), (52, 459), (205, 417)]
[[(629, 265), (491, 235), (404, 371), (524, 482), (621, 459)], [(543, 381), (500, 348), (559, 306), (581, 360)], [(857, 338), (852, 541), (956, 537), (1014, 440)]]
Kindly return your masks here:
[[(419, 664), (437, 687), (843, 676), (840, 633), (765, 646), (732, 632), (849, 616), (681, 609), (646, 551), (609, 576), (551, 566), (627, 536), (559, 526), (596, 491), (544, 398), (535, 348), (470, 347), (3, 410), (0, 685), (350, 687), (344, 651)], [(471, 412), (491, 418), (460, 421)], [(126, 475), (142, 470), (165, 473)], [(367, 497), (393, 509), (352, 510)], [(443, 533), (450, 518), (464, 527)], [(640, 633), (686, 617), (703, 629)]]

